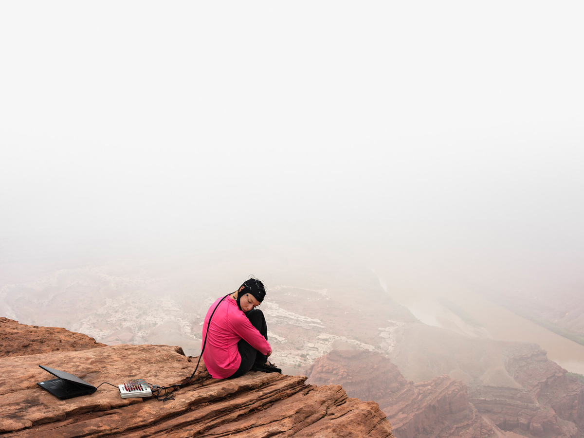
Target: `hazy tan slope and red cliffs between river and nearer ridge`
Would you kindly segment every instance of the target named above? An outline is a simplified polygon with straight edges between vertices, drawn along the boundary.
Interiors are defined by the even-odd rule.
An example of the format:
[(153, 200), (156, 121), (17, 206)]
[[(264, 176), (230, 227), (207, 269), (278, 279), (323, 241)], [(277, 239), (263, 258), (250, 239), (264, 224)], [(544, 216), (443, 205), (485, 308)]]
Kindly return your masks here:
[(391, 357), (406, 376), (460, 378), (470, 403), (503, 432), (584, 436), (584, 385), (536, 344), (468, 338), (422, 324), (405, 325), (398, 337)]

